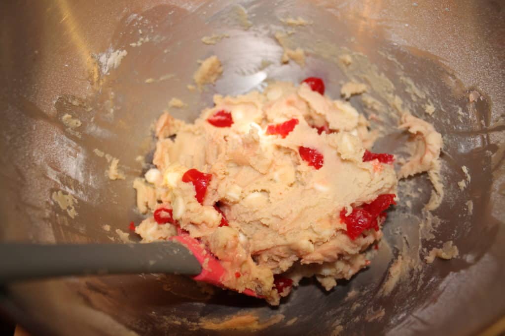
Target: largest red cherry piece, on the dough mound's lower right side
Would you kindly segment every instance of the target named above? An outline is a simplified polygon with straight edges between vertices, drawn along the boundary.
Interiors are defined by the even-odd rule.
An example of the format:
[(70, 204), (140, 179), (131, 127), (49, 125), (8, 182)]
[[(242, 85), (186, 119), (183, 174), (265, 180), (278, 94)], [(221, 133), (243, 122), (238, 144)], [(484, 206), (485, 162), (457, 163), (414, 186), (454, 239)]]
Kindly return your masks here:
[(349, 238), (354, 240), (365, 230), (379, 230), (377, 217), (385, 217), (383, 211), (387, 210), (390, 205), (396, 204), (394, 201), (395, 196), (396, 195), (392, 193), (379, 195), (371, 203), (353, 208), (349, 216), (345, 216), (346, 210), (342, 209), (342, 211), (340, 211), (340, 219), (347, 227), (347, 235)]

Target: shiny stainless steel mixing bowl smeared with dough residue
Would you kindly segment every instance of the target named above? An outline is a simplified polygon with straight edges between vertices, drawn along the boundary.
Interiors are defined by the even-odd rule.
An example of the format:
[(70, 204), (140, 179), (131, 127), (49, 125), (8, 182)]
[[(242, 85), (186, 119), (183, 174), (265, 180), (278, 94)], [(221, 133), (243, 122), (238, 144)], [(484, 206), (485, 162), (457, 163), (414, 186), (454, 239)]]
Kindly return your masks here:
[[(10, 286), (2, 291), (4, 311), (34, 334), (62, 335), (252, 333), (200, 329), (198, 324), (237, 312), (260, 320), (285, 316), (258, 334), (329, 335), (343, 328), (341, 334), (464, 335), (503, 316), (503, 3), (242, 1), (248, 18), (236, 5), (176, 0), (2, 2), (1, 239), (120, 242), (115, 230), (127, 232), (128, 223), (141, 218), (134, 210), (131, 182), (146, 167), (136, 158), (147, 154), (149, 162), (149, 127), (167, 101), (179, 97), (187, 102), (187, 108), (173, 114), (191, 120), (212, 103), (214, 93), (236, 94), (257, 86), (256, 77), (247, 76), (261, 69), (269, 80), (323, 77), (333, 97), (338, 97), (346, 77), (363, 80), (365, 71), (387, 77), (394, 85), (390, 93), (443, 135), (446, 196), (434, 212), (441, 220), (435, 238), (425, 239), (429, 234), (419, 230), (431, 188), (421, 176), (402, 184), (403, 200), (385, 225), (388, 244), (381, 245), (372, 266), (328, 293), (308, 280), (280, 307), (269, 307), (232, 293), (202, 292), (182, 277), (106, 276)], [(298, 16), (313, 24), (286, 27), (279, 21)], [(248, 29), (247, 20), (252, 23)], [(293, 46), (308, 51), (305, 68), (280, 64), (282, 48), (273, 38), (277, 30), (295, 31), (290, 35)], [(212, 33), (227, 33), (229, 38), (216, 45), (200, 42)], [(103, 62), (117, 50), (127, 51), (117, 68)], [(353, 52), (360, 61), (346, 69), (336, 59), (339, 52)], [(223, 61), (223, 78), (202, 94), (187, 90), (196, 60), (212, 54)], [(145, 83), (149, 78), (154, 82)], [(417, 95), (405, 78), (428, 95)], [(384, 83), (369, 83), (370, 94), (393, 110), (383, 99)], [(470, 102), (473, 91), (480, 98)], [(428, 99), (436, 107), (433, 116), (424, 113)], [(359, 97), (351, 103), (366, 112)], [(65, 114), (82, 125), (69, 130), (62, 122)], [(394, 130), (396, 121), (388, 116), (392, 135), (380, 140), (377, 149), (397, 151), (394, 144), (406, 138)], [(108, 163), (93, 154), (95, 148), (120, 159), (126, 180), (105, 176)], [(461, 191), (457, 182), (464, 178), (463, 165), (472, 179)], [(405, 193), (409, 183), (422, 189), (411, 197), (412, 209), (405, 201), (410, 199)], [(75, 219), (52, 199), (58, 190), (77, 199)], [(472, 214), (468, 200), (473, 201)], [(112, 229), (106, 231), (104, 225)], [(447, 240), (458, 246), (459, 258), (423, 264), (389, 295), (379, 293), (388, 265), (405, 252), (402, 249), (422, 258), (422, 248)]]

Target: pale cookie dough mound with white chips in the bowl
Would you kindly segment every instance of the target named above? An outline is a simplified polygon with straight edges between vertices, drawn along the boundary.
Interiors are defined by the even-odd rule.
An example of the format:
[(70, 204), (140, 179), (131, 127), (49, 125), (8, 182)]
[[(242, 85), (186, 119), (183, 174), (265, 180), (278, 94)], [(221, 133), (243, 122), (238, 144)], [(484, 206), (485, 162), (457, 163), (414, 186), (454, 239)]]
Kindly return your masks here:
[[(216, 95), (214, 103), (192, 124), (168, 113), (160, 117), (156, 169), (134, 185), (139, 210), (171, 208), (180, 229), (205, 244), (226, 268), (224, 286), (250, 289), (273, 305), (291, 289), (276, 288), (274, 275), (294, 286), (302, 277), (316, 276), (330, 290), (338, 279), (350, 279), (368, 265), (364, 251), (382, 231), (365, 230), (351, 239), (341, 212), (349, 216), (353, 208), (395, 193), (397, 176), (392, 164), (363, 162), (364, 144), (371, 143), (366, 119), (348, 102), (331, 100), (305, 83), (273, 83), (263, 93), (237, 97)], [(220, 111), (231, 113), (231, 126), (208, 121)], [(291, 119), (297, 123), (284, 138), (268, 131), (269, 125)], [(412, 120), (404, 125), (413, 131)], [(329, 131), (318, 132), (322, 127)], [(300, 147), (317, 150), (322, 166), (310, 165)], [(416, 157), (421, 165), (427, 159), (426, 154)], [(212, 175), (201, 204), (193, 184), (182, 181), (192, 168)], [(416, 172), (409, 167), (404, 174)], [(220, 226), (223, 215), (215, 205), (228, 226)], [(175, 225), (157, 225), (153, 216), (136, 232), (145, 242), (177, 234)]]

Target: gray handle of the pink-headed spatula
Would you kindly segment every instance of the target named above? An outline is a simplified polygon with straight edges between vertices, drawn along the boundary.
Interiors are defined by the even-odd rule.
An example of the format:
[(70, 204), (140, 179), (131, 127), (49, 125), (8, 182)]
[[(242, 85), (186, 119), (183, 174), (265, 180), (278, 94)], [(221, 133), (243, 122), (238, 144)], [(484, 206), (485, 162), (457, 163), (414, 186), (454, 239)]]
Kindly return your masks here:
[(121, 273), (197, 275), (201, 266), (175, 241), (149, 244), (0, 244), (0, 284)]

